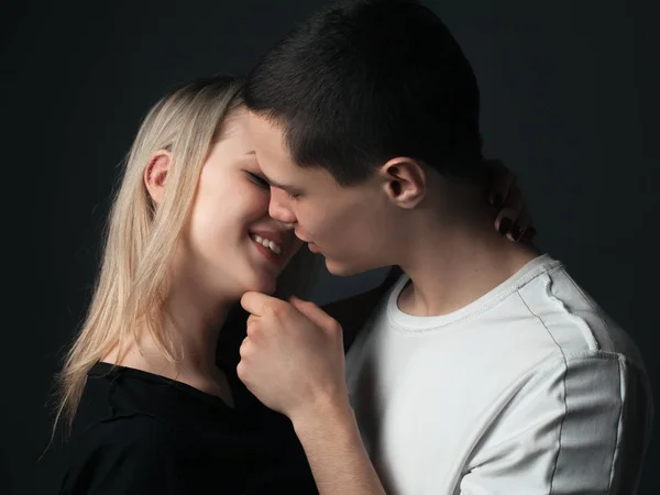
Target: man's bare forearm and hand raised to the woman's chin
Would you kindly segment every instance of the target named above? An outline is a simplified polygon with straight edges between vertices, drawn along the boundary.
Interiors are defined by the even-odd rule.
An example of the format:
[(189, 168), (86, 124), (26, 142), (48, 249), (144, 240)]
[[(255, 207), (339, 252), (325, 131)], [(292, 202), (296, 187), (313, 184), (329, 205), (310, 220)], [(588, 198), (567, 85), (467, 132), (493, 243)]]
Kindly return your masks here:
[(251, 316), (239, 378), (287, 416), (321, 494), (384, 494), (349, 403), (342, 329), (312, 302), (258, 293), (241, 299)]

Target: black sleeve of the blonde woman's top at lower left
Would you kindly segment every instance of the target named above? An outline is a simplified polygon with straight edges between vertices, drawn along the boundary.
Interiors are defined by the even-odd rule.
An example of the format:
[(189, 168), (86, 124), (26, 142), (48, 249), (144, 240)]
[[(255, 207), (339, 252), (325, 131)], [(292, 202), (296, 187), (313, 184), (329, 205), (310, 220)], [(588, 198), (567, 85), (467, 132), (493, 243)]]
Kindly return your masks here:
[(75, 440), (72, 451), (61, 495), (186, 493), (173, 437), (156, 419), (101, 421)]

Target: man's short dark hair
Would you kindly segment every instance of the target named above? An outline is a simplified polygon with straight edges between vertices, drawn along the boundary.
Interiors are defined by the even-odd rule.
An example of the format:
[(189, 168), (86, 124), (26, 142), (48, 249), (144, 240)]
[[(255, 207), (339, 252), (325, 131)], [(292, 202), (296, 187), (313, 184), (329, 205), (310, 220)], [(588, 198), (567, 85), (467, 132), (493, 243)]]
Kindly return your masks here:
[(459, 179), (481, 176), (479, 88), (447, 26), (414, 0), (336, 2), (251, 72), (248, 107), (283, 127), (299, 166), (342, 185), (406, 156)]

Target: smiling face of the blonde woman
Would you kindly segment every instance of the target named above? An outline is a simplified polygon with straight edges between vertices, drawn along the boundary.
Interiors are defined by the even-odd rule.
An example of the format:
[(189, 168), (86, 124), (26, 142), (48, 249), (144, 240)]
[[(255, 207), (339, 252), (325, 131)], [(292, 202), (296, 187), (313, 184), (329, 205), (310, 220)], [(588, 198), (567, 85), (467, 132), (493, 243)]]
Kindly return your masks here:
[(218, 295), (272, 293), (300, 248), (292, 228), (268, 216), (271, 189), (260, 176), (248, 111), (239, 108), (201, 170), (179, 264), (185, 276)]

